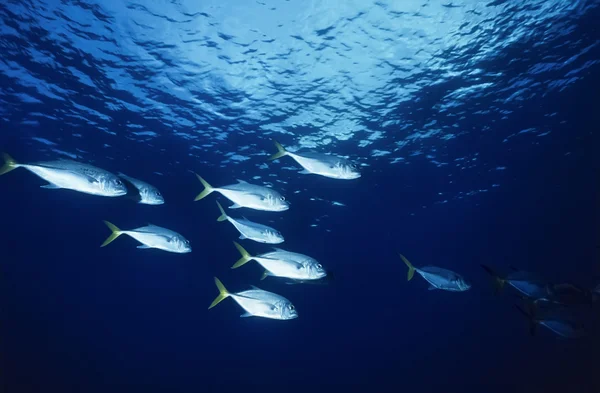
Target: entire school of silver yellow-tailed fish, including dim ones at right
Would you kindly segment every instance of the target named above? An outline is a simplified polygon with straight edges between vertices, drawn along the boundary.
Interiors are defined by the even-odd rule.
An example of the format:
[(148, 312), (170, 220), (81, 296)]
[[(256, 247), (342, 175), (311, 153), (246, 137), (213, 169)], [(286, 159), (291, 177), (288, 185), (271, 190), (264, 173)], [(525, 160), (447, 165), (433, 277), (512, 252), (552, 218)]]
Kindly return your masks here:
[[(269, 160), (278, 160), (285, 156), (293, 159), (302, 170), (300, 174), (313, 174), (337, 180), (356, 180), (361, 177), (357, 165), (349, 160), (331, 154), (315, 151), (290, 152), (279, 142), (273, 141), (277, 152)], [(128, 197), (145, 205), (162, 205), (165, 203), (159, 190), (149, 183), (130, 177), (121, 172), (113, 174), (95, 166), (73, 160), (59, 159), (35, 163), (18, 163), (6, 153), (2, 154), (4, 166), (0, 175), (18, 168), (24, 168), (45, 180), (44, 189), (67, 189), (96, 196)], [(265, 186), (251, 184), (236, 179), (235, 183), (213, 187), (204, 178), (196, 174), (204, 189), (194, 201), (200, 201), (212, 193), (218, 193), (232, 204), (228, 209), (253, 209), (264, 212), (285, 212), (290, 209), (290, 202), (278, 191)], [(217, 221), (227, 221), (239, 232), (239, 240), (250, 240), (261, 244), (281, 244), (285, 238), (280, 231), (270, 226), (253, 222), (242, 215), (227, 214), (219, 201), (216, 201), (219, 216)], [(140, 243), (139, 249), (158, 249), (171, 253), (190, 253), (192, 247), (183, 235), (154, 224), (147, 224), (134, 229), (122, 230), (107, 220), (104, 224), (110, 235), (101, 244), (105, 247), (121, 235), (130, 236)], [(319, 261), (311, 256), (282, 248), (251, 254), (240, 243), (233, 241), (233, 246), (240, 253), (240, 258), (231, 266), (237, 269), (254, 261), (263, 269), (261, 280), (273, 277), (286, 284), (327, 284), (333, 279)], [(403, 255), (400, 259), (407, 267), (407, 280), (411, 281), (419, 275), (428, 284), (429, 290), (447, 292), (466, 292), (471, 289), (471, 282), (448, 268), (438, 266), (413, 266)], [(594, 289), (582, 288), (571, 283), (549, 283), (536, 274), (524, 272), (510, 267), (511, 272), (505, 275), (497, 273), (487, 265), (481, 265), (490, 275), (495, 293), (510, 287), (514, 295), (523, 301), (524, 307), (515, 304), (529, 324), (530, 334), (534, 335), (538, 326), (548, 329), (563, 338), (577, 338), (584, 335), (582, 326), (564, 317), (564, 309), (573, 306), (591, 306), (600, 299), (600, 285)], [(218, 295), (208, 307), (215, 307), (226, 298), (232, 298), (243, 310), (241, 317), (261, 317), (276, 320), (293, 320), (299, 317), (294, 304), (284, 296), (262, 290), (255, 286), (239, 292), (229, 292), (224, 284), (214, 278)]]

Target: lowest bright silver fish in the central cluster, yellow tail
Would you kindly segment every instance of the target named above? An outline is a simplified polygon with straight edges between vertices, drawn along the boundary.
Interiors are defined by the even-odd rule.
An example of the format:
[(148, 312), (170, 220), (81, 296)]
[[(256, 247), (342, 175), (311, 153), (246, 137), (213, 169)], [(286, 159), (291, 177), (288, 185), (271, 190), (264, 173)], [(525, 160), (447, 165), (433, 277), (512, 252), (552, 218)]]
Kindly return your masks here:
[(224, 299), (231, 297), (246, 311), (240, 318), (262, 317), (278, 320), (290, 320), (298, 318), (296, 307), (288, 299), (273, 292), (267, 292), (252, 285), (247, 291), (231, 293), (227, 291), (223, 283), (215, 277), (215, 284), (219, 289), (219, 295), (208, 307), (210, 310)]

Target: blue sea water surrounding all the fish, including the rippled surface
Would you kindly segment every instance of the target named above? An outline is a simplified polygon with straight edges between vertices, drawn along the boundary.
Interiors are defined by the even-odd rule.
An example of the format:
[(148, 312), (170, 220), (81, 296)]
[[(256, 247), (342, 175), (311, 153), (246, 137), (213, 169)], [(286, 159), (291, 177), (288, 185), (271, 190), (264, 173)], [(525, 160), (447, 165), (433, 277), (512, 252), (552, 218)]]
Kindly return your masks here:
[[(600, 283), (599, 5), (2, 2), (0, 149), (122, 171), (166, 204), (0, 177), (0, 390), (598, 393), (598, 305), (568, 310), (580, 339), (531, 337), (480, 264)], [(269, 162), (271, 138), (347, 156), (362, 177)], [(231, 270), (237, 232), (214, 201), (228, 203), (193, 202), (193, 172), (286, 195), (289, 211), (235, 214), (334, 281)], [(174, 229), (193, 252), (100, 248), (102, 220)], [(398, 252), (473, 287), (407, 282)], [(239, 318), (231, 299), (209, 311), (214, 276), (300, 317)]]

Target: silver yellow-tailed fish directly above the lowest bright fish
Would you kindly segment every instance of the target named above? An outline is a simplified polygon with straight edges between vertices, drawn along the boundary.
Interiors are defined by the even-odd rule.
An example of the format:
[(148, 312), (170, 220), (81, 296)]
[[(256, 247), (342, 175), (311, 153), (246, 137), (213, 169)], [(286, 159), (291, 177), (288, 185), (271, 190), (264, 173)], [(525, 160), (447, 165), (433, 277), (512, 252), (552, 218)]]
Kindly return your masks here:
[(308, 255), (275, 249), (275, 251), (252, 256), (237, 242), (233, 244), (242, 256), (231, 268), (237, 269), (250, 261), (256, 261), (265, 269), (262, 279), (273, 276), (307, 281), (319, 280), (327, 275), (323, 266)]

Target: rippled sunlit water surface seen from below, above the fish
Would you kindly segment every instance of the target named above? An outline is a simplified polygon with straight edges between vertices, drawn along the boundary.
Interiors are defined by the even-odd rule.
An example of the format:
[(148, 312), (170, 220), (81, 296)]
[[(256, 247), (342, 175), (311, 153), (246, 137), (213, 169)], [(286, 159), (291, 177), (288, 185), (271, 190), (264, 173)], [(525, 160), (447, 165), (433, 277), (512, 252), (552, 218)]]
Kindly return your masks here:
[[(577, 33), (592, 14), (598, 2), (572, 0), (8, 1), (0, 121), (38, 141), (77, 130), (59, 146), (180, 138), (204, 164), (262, 166), (276, 137), (363, 165), (469, 170), (450, 163), (477, 151), (444, 146), (597, 72), (598, 40)], [(215, 146), (226, 153), (208, 159)]]

